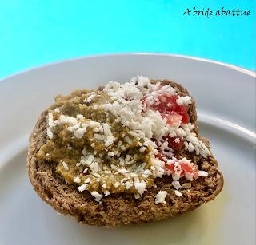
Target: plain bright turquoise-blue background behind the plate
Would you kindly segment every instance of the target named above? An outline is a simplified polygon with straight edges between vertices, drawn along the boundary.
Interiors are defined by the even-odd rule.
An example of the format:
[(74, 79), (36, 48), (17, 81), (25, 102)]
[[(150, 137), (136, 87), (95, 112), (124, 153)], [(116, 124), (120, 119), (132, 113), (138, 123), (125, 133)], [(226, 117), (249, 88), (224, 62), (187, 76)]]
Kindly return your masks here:
[[(187, 7), (250, 10), (243, 17), (185, 17)], [(71, 57), (157, 52), (255, 69), (255, 1), (0, 2), (0, 77)]]

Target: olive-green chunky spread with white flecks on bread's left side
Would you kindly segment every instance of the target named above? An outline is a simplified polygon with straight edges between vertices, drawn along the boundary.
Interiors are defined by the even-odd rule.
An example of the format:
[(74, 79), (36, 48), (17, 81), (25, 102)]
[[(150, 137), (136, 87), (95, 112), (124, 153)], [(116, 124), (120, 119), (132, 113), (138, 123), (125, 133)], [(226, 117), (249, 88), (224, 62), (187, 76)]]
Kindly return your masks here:
[[(146, 188), (154, 184), (152, 174), (145, 172), (152, 166), (150, 148), (140, 151), (142, 142), (113, 114), (105, 112), (102, 105), (110, 101), (106, 93), (77, 90), (55, 101), (48, 115), (52, 136), (38, 151), (38, 158), (57, 163), (56, 172), (66, 182), (85, 184), (89, 192), (106, 195), (138, 193), (139, 188), (130, 181), (134, 178), (144, 181)], [(108, 129), (111, 144), (104, 135)]]

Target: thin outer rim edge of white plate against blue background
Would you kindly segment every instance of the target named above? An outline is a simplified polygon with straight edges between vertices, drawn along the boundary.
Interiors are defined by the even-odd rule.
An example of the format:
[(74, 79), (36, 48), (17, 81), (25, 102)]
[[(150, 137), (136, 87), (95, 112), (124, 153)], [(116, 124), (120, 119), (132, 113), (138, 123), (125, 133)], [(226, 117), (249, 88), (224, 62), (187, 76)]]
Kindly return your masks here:
[[(256, 78), (256, 72), (254, 72), (253, 70), (245, 69), (238, 65), (231, 65), (229, 63), (225, 63), (222, 61), (215, 61), (213, 59), (208, 59), (208, 58), (203, 58), (203, 57), (194, 57), (194, 56), (190, 56), (190, 55), (182, 55), (182, 54), (177, 54), (177, 53), (124, 52), (124, 53), (103, 53), (103, 54), (84, 55), (84, 56), (61, 59), (58, 61), (52, 61), (50, 63), (46, 63), (43, 65), (35, 65), (31, 68), (23, 69), (16, 73), (10, 74), (7, 77), (0, 78), (0, 83), (3, 81), (9, 80), (11, 78), (14, 78), (14, 77), (18, 77), (19, 75), (22, 75), (24, 73), (30, 73), (30, 72), (36, 71), (38, 69), (50, 67), (51, 65), (59, 65), (59, 64), (67, 63), (67, 62), (80, 61), (80, 60), (90, 59), (90, 58), (95, 58), (95, 57), (97, 58), (97, 57), (122, 57), (122, 56), (125, 56), (125, 57), (129, 57), (129, 56), (130, 57), (132, 57), (132, 56), (134, 56), (134, 57), (136, 57), (136, 56), (179, 57), (179, 58), (183, 58), (185, 60), (201, 61), (203, 63), (210, 63), (210, 64), (214, 64), (214, 65), (223, 66), (225, 68), (233, 69), (234, 71), (237, 71), (239, 73), (244, 73), (246, 75), (249, 75), (250, 77)], [(256, 82), (256, 80), (255, 80), (255, 82)]]

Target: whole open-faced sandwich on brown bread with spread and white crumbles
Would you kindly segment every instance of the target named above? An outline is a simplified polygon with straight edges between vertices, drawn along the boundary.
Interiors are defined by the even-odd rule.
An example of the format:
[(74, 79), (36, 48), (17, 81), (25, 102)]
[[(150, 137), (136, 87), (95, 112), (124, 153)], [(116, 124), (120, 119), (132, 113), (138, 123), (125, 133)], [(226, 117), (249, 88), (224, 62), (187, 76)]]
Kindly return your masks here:
[(193, 210), (223, 186), (190, 94), (147, 77), (57, 96), (30, 136), (28, 171), (57, 211), (108, 227)]

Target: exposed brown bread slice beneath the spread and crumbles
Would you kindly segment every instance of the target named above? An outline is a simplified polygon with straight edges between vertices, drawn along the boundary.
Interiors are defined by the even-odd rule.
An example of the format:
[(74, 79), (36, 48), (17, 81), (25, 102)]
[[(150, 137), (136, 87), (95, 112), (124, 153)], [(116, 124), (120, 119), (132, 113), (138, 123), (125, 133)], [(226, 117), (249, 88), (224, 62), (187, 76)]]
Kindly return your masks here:
[[(152, 81), (156, 82), (156, 81)], [(179, 95), (189, 93), (181, 85), (173, 81), (163, 80), (162, 84), (170, 84)], [(189, 106), (190, 122), (195, 125), (198, 135), (197, 113), (195, 103)], [(102, 204), (94, 200), (90, 192), (78, 192), (73, 184), (66, 184), (55, 172), (56, 164), (46, 160), (38, 160), (36, 154), (42, 144), (46, 143), (47, 111), (38, 118), (38, 122), (30, 135), (27, 168), (30, 182), (42, 200), (50, 204), (58, 212), (74, 216), (78, 222), (90, 225), (116, 227), (128, 223), (146, 223), (154, 220), (166, 219), (186, 211), (194, 210), (201, 204), (214, 200), (223, 187), (223, 176), (218, 171), (214, 156), (203, 158), (194, 152), (182, 150), (180, 156), (192, 159), (199, 169), (209, 173), (207, 177), (199, 177), (192, 181), (191, 188), (182, 189), (182, 197), (174, 194), (170, 176), (163, 176), (154, 180), (154, 188), (148, 189), (143, 196), (136, 200), (133, 195), (110, 194), (104, 196)], [(202, 139), (210, 147), (209, 141)], [(182, 181), (181, 181), (182, 182)], [(158, 191), (166, 191), (166, 204), (155, 204), (154, 196)]]

